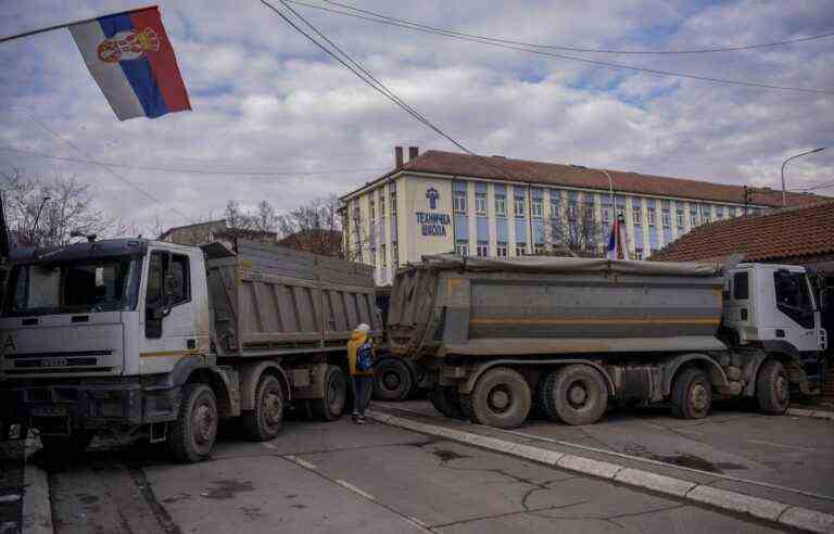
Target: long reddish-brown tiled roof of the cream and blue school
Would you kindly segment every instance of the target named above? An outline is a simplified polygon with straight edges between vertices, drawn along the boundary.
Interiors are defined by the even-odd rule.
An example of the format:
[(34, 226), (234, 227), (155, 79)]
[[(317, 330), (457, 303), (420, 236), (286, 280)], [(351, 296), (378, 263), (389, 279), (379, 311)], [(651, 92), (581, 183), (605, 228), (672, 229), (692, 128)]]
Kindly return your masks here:
[[(602, 169), (513, 160), (503, 156), (478, 156), (429, 150), (408, 161), (402, 167), (394, 168), (362, 188), (348, 193), (342, 199), (351, 196), (365, 187), (382, 181), (403, 170), (608, 191), (608, 178)], [(643, 175), (623, 170), (606, 170), (611, 175), (616, 192), (744, 204), (744, 187), (742, 186)], [(750, 188), (750, 203), (754, 205), (779, 206), (782, 204), (781, 191), (768, 188)], [(824, 198), (808, 193), (787, 194), (788, 205), (812, 204), (821, 199)]]

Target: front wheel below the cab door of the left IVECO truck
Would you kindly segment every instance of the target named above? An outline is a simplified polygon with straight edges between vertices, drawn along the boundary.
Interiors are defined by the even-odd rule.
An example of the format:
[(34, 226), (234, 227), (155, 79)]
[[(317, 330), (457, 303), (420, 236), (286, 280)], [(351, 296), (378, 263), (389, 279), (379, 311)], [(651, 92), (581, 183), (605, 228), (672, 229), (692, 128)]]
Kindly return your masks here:
[(168, 447), (177, 461), (204, 460), (217, 437), (217, 400), (205, 384), (182, 387), (179, 415), (168, 436)]

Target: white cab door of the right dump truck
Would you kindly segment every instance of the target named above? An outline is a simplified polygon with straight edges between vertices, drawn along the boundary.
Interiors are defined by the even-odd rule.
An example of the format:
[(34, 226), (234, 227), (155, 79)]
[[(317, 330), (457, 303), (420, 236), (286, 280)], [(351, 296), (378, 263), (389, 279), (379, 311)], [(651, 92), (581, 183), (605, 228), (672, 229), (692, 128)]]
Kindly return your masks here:
[(773, 272), (776, 340), (783, 339), (800, 353), (819, 351), (816, 306), (805, 272), (778, 269)]

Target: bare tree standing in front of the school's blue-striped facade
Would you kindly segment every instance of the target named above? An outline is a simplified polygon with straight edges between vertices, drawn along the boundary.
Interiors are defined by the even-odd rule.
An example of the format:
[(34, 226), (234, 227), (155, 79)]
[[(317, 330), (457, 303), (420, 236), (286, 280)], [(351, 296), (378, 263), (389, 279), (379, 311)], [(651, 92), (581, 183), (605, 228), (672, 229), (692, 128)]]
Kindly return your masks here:
[(544, 221), (546, 252), (564, 255), (569, 251), (582, 257), (603, 256), (606, 229), (596, 220), (593, 204), (570, 201), (555, 207), (549, 220)]

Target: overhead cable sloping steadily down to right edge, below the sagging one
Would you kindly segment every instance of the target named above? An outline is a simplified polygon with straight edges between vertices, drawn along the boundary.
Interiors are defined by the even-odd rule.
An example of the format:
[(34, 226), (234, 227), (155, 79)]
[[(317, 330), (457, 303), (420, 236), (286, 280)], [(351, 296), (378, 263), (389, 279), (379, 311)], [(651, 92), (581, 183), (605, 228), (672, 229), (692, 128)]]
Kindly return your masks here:
[[(281, 0), (285, 1), (285, 0)], [(597, 60), (589, 60), (586, 58), (578, 58), (573, 55), (566, 55), (561, 53), (556, 52), (549, 52), (546, 50), (542, 50), (541, 48), (529, 48), (528, 46), (523, 44), (509, 44), (506, 42), (502, 42), (500, 40), (494, 40), (491, 38), (483, 38), (478, 36), (470, 36), (468, 34), (462, 34), (462, 33), (455, 33), (445, 30), (443, 28), (434, 27), (434, 26), (428, 26), (425, 24), (414, 23), (410, 21), (406, 21), (403, 18), (394, 18), (388, 15), (383, 15), (380, 13), (374, 13), (369, 11), (363, 10), (363, 12), (366, 13), (374, 13), (374, 16), (365, 16), (362, 14), (357, 14), (355, 12), (348, 12), (342, 10), (336, 10), (332, 8), (325, 8), (323, 5), (316, 5), (308, 2), (303, 2), (300, 0), (286, 0), (287, 2), (292, 2), (299, 5), (305, 5), (308, 8), (328, 11), (331, 13), (338, 13), (345, 16), (352, 16), (355, 18), (362, 18), (365, 21), (379, 23), (379, 24), (387, 24), (390, 26), (396, 26), (405, 29), (409, 29), (413, 31), (422, 31), (428, 34), (434, 34), (434, 35), (442, 35), (445, 37), (450, 37), (452, 39), (463, 40), (463, 41), (469, 41), (469, 42), (477, 42), (480, 44), (486, 44), (490, 47), (495, 48), (503, 48), (507, 50), (516, 50), (519, 52), (528, 52), (532, 54), (539, 54), (539, 55), (545, 55), (548, 58), (555, 58), (559, 60), (566, 60), (566, 61), (572, 61), (572, 62), (579, 62), (579, 63), (585, 63), (589, 65), (595, 65), (595, 66), (602, 66), (606, 68), (615, 68), (615, 69), (624, 69), (624, 71), (633, 71), (633, 72), (640, 72), (640, 73), (646, 73), (652, 74), (656, 76), (671, 76), (677, 78), (685, 78), (685, 79), (695, 79), (699, 81), (708, 81), (712, 84), (726, 84), (726, 85), (734, 85), (734, 86), (743, 86), (743, 87), (755, 87), (759, 89), (771, 89), (771, 90), (781, 90), (781, 91), (794, 91), (794, 92), (805, 92), (805, 93), (811, 93), (811, 94), (834, 94), (834, 90), (825, 90), (825, 89), (807, 89), (803, 87), (792, 87), (792, 86), (778, 86), (773, 84), (766, 84), (762, 81), (750, 81), (750, 80), (738, 80), (738, 79), (730, 79), (730, 78), (718, 78), (715, 76), (702, 76), (698, 74), (690, 74), (690, 73), (681, 73), (675, 71), (665, 71), (659, 68), (647, 68), (647, 67), (639, 67), (634, 65), (626, 65), (621, 63), (611, 63), (606, 61), (597, 61)], [(343, 4), (339, 4), (343, 5)]]

